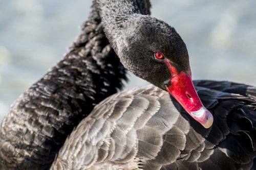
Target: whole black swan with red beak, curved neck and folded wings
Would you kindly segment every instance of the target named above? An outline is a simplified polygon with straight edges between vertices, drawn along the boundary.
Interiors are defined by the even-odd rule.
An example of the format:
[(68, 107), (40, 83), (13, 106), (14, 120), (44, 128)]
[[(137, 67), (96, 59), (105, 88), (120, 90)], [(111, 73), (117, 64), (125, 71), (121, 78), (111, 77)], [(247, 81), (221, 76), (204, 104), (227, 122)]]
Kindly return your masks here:
[[(13, 105), (11, 113), (2, 123), (0, 154), (3, 168), (48, 168), (63, 138), (94, 106), (92, 113), (67, 138), (52, 169), (256, 168), (256, 89), (231, 82), (194, 82), (204, 106), (214, 115), (212, 124), (211, 114), (202, 106), (191, 83), (185, 43), (174, 28), (143, 15), (148, 14), (145, 10), (148, 4), (148, 1), (135, 0), (94, 1), (94, 12), (99, 11), (106, 37), (124, 66), (158, 87), (116, 93), (95, 106), (104, 96), (95, 99), (99, 95), (93, 89), (96, 84), (80, 82), (93, 79), (93, 74), (101, 75), (93, 69), (98, 63), (92, 64), (92, 59), (96, 58), (92, 56), (91, 62), (82, 60), (87, 63), (86, 68), (72, 66), (68, 59), (75, 62), (89, 41), (78, 43), (80, 45), (75, 43), (74, 47), (81, 51), (72, 50), (67, 55), (69, 57), (66, 56), (33, 85)], [(80, 36), (81, 39), (83, 37), (86, 36)], [(74, 56), (72, 52), (76, 52)], [(123, 68), (118, 60), (116, 62)], [(80, 63), (81, 60), (76, 64)], [(78, 72), (61, 69), (60, 66)], [(83, 74), (84, 71), (87, 74)], [(61, 78), (62, 75), (57, 73), (65, 77)], [(81, 79), (78, 82), (75, 81), (76, 74)], [(83, 79), (87, 75), (89, 77)], [(72, 76), (75, 80), (70, 82)], [(120, 80), (125, 79), (122, 74), (119, 76), (117, 87), (121, 86)], [(101, 79), (105, 85), (107, 79), (103, 76)], [(58, 83), (67, 83), (68, 86), (63, 88)], [(75, 90), (72, 88), (74, 84)], [(80, 86), (83, 88), (80, 89)], [(87, 86), (92, 88), (88, 90)], [(76, 88), (79, 88), (78, 91)], [(112, 88), (112, 92), (115, 91), (116, 87)], [(194, 118), (187, 115), (165, 90)], [(108, 90), (101, 91), (105, 92), (102, 95), (110, 94)], [(40, 100), (40, 104), (36, 99)]]

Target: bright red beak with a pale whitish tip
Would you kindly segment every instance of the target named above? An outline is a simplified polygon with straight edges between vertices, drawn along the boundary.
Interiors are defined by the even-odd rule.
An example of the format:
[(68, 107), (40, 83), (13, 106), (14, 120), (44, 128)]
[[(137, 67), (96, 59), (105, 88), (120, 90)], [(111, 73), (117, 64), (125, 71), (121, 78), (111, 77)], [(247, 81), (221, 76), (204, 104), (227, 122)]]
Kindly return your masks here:
[(191, 79), (191, 71), (189, 75), (184, 71), (178, 72), (175, 65), (172, 65), (169, 60), (165, 59), (170, 72), (170, 86), (166, 86), (166, 90), (174, 96), (181, 106), (192, 116), (197, 122), (205, 128), (211, 127), (214, 122), (212, 114), (203, 106), (197, 91)]

